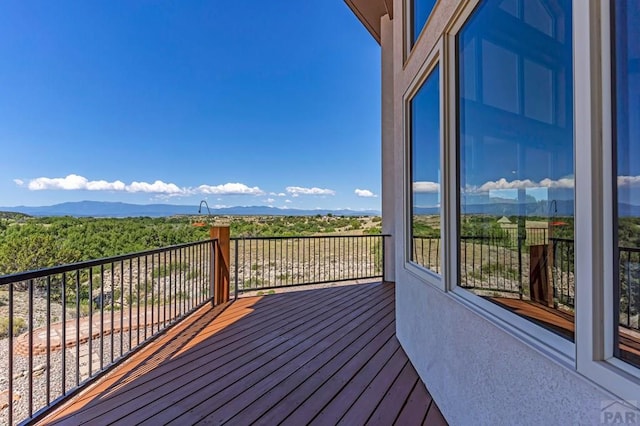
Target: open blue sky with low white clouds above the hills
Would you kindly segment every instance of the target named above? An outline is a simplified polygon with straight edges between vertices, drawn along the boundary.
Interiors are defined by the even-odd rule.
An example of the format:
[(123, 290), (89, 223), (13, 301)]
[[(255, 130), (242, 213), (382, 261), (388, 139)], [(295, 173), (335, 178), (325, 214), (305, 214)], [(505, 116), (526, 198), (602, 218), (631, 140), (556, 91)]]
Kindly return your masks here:
[(0, 3), (0, 206), (380, 208), (380, 49), (342, 0)]

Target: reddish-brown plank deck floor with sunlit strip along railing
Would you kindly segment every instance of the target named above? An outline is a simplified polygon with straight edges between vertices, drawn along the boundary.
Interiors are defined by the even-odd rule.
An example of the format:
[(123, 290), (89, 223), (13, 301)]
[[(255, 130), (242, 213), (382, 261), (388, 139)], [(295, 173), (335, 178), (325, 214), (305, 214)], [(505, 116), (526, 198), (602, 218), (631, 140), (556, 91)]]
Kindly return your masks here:
[(394, 306), (375, 283), (203, 308), (41, 424), (446, 424)]

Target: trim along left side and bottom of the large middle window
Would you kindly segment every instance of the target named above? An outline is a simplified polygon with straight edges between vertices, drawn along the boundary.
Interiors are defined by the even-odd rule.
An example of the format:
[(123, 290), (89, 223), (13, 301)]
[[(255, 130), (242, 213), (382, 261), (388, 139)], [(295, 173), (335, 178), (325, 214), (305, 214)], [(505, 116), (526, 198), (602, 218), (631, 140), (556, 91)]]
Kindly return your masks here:
[(443, 69), (446, 70), (448, 108), (446, 111), (447, 118), (447, 158), (445, 164), (447, 166), (447, 176), (445, 182), (446, 210), (447, 210), (447, 247), (446, 255), (448, 263), (446, 265), (446, 289), (450, 291), (450, 295), (459, 303), (474, 311), (478, 315), (489, 320), (491, 323), (501, 328), (505, 332), (513, 335), (519, 340), (527, 343), (539, 353), (546, 357), (560, 362), (568, 368), (575, 369), (576, 346), (573, 342), (540, 327), (533, 322), (516, 315), (515, 313), (497, 306), (480, 296), (458, 286), (459, 268), (458, 268), (458, 129), (457, 129), (457, 108), (458, 99), (456, 94), (457, 80), (457, 58), (456, 58), (456, 35), (463, 29), (464, 24), (479, 4), (480, 0), (467, 0), (461, 4), (458, 13), (452, 18), (451, 22), (445, 28), (444, 33), (444, 52)]

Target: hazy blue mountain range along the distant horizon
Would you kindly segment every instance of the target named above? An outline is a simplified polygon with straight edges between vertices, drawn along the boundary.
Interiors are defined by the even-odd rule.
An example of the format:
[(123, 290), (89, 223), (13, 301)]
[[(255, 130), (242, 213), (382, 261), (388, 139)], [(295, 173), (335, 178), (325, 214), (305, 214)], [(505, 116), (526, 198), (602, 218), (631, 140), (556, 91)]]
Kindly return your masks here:
[[(22, 213), (31, 216), (164, 217), (198, 214), (198, 207), (195, 205), (127, 204), (106, 201), (79, 201), (41, 207), (0, 207), (0, 211), (7, 213)], [(317, 214), (333, 214), (335, 216), (379, 216), (380, 212), (375, 210), (300, 210), (280, 209), (269, 206), (251, 206), (211, 209), (211, 214), (217, 216), (314, 216)]]

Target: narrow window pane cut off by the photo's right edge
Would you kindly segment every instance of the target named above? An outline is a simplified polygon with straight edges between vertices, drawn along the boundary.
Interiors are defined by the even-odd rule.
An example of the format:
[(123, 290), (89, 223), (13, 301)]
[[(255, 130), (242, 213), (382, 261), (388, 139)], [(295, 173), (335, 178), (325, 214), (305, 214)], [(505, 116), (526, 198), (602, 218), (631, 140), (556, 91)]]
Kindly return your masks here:
[(615, 2), (613, 15), (614, 354), (640, 367), (640, 3)]

